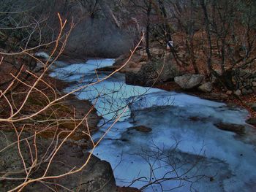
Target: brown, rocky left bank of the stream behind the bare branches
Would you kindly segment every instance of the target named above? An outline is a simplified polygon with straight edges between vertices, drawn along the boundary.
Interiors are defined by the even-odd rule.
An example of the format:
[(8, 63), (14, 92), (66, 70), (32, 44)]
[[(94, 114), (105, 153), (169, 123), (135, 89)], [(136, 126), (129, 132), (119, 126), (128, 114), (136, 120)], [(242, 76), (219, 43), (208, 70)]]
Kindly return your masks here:
[[(4, 68), (1, 69), (3, 69), (4, 73)], [(31, 77), (27, 80), (30, 82), (33, 78)], [(54, 88), (58, 97), (63, 96), (64, 89), (71, 85), (70, 83), (49, 77), (47, 74), (43, 77), (43, 80)], [(14, 92), (17, 91), (20, 93), (26, 90), (26, 86), (22, 84), (16, 85), (16, 87), (17, 88), (13, 90)], [(45, 83), (39, 82), (37, 88), (45, 91), (49, 99), (55, 97), (50, 88), (45, 87)], [(18, 104), (19, 100), (20, 102), (23, 101), (21, 97), (18, 98), (19, 100), (16, 98), (17, 97), (15, 97), (16, 104)], [(31, 93), (28, 101), (26, 101), (23, 112), (26, 114), (37, 112), (41, 110), (46, 103), (45, 97), (37, 93), (37, 91), (34, 91)], [(5, 112), (8, 112), (4, 104), (1, 103), (1, 107), (6, 110), (1, 110), (1, 118), (6, 115)], [(37, 157), (37, 162), (39, 163), (36, 168), (31, 170), (29, 178), (42, 177), (48, 166), (50, 155), (56, 150), (56, 146), (60, 144), (62, 139), (67, 136), (65, 133), (61, 134), (61, 131), (71, 131), (76, 124), (72, 118), (83, 118), (92, 107), (93, 104), (91, 104), (90, 101), (80, 100), (75, 95), (69, 95), (64, 100), (50, 106), (48, 110), (41, 112), (41, 114), (37, 115), (35, 118), (15, 124), (17, 126), (21, 123), (26, 125), (23, 131), (18, 129), (18, 131), (20, 131), (20, 146), (15, 142), (17, 141), (17, 136), (13, 127), (9, 123), (0, 123), (0, 191), (9, 191), (15, 188), (17, 185), (23, 183), (23, 178), (26, 177), (26, 172), (24, 172), (23, 163), (18, 153), (19, 147), (21, 149), (20, 153), (23, 155), (23, 161), (26, 162), (27, 167), (31, 166), (31, 161), (33, 161), (35, 157)], [(56, 122), (58, 123), (56, 126), (54, 122), (52, 126), (51, 123), (48, 125), (48, 120), (52, 118), (53, 114), (54, 118), (57, 118)], [(69, 119), (69, 117), (71, 117), (71, 119)], [(97, 124), (100, 119), (95, 109), (91, 110), (90, 114), (87, 116), (87, 123), (92, 133), (97, 131)], [(51, 128), (47, 128), (48, 126)], [(45, 131), (43, 131), (44, 129)], [(56, 153), (53, 158), (47, 176), (57, 176), (67, 173), (74, 167), (80, 167), (85, 163), (86, 159), (89, 158), (88, 150), (91, 149), (91, 142), (82, 133), (84, 130), (86, 130), (86, 125), (83, 124), (78, 128), (78, 131), (72, 134), (68, 141), (62, 145), (59, 152)], [(35, 133), (37, 133), (37, 137), (34, 136)], [(5, 177), (7, 177), (7, 179), (5, 179)], [(42, 182), (32, 183), (31, 185), (27, 185), (23, 190), (52, 191), (53, 188), (57, 191), (67, 191), (67, 188), (72, 191), (99, 190), (109, 192), (117, 190), (116, 180), (113, 177), (113, 170), (110, 164), (107, 161), (100, 160), (95, 155), (91, 155), (89, 164), (87, 164), (86, 168), (81, 172), (70, 174), (66, 177), (56, 177), (49, 180), (42, 180)]]

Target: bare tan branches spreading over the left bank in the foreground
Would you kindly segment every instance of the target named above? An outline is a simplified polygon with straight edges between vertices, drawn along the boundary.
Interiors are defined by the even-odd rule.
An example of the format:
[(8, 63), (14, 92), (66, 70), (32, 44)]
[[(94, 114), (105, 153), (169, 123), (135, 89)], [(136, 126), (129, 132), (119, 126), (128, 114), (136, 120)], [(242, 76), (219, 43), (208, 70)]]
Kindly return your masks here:
[[(113, 120), (113, 123), (108, 126), (105, 133), (96, 142), (91, 137), (91, 132), (94, 128), (89, 126), (89, 116), (94, 110), (94, 105), (92, 105), (83, 116), (77, 115), (75, 110), (67, 117), (61, 117), (58, 115), (59, 110), (65, 106), (65, 99), (69, 98), (73, 93), (79, 92), (84, 88), (89, 88), (110, 78), (113, 74), (120, 71), (127, 65), (130, 58), (132, 58), (132, 55), (135, 53), (135, 50), (138, 48), (137, 45), (135, 50), (132, 50), (127, 62), (125, 62), (125, 64), (120, 68), (116, 69), (115, 72), (108, 74), (107, 77), (97, 79), (94, 82), (89, 82), (86, 85), (80, 85), (78, 88), (75, 88), (68, 93), (61, 94), (56, 90), (56, 88), (54, 88), (53, 84), (45, 80), (50, 67), (53, 66), (61, 53), (63, 53), (64, 47), (67, 44), (67, 39), (74, 27), (74, 23), (72, 22), (68, 27), (67, 20), (62, 19), (61, 15), (59, 15), (59, 23), (59, 34), (56, 39), (53, 39), (51, 42), (45, 44), (39, 43), (39, 45), (34, 47), (28, 46), (20, 48), (21, 50), (18, 51), (12, 50), (10, 53), (4, 51), (0, 52), (0, 67), (3, 67), (6, 64), (4, 61), (5, 57), (18, 57), (20, 55), (26, 55), (27, 57), (34, 59), (34, 61), (42, 66), (41, 71), (33, 72), (27, 69), (25, 65), (21, 64), (21, 67), (16, 74), (10, 74), (12, 76), (11, 80), (6, 82), (4, 85), (1, 85), (0, 104), (4, 107), (4, 110), (0, 111), (1, 128), (5, 128), (8, 131), (14, 131), (16, 140), (13, 142), (8, 141), (7, 139), (7, 145), (0, 149), (0, 153), (1, 155), (4, 155), (7, 150), (14, 147), (15, 154), (19, 156), (18, 161), (20, 161), (21, 165), (18, 166), (18, 170), (7, 168), (0, 172), (1, 182), (13, 182), (12, 185), (8, 186), (9, 191), (23, 191), (26, 186), (34, 183), (42, 183), (51, 190), (53, 188), (51, 188), (50, 185), (58, 185), (59, 188), (70, 191), (71, 189), (59, 184), (58, 182), (56, 183), (56, 180), (60, 180), (61, 178), (71, 174), (82, 172), (89, 164), (95, 147), (99, 145), (99, 142), (101, 142), (105, 135), (108, 134), (113, 125), (119, 120), (119, 118), (121, 118), (121, 115), (123, 115), (127, 109), (127, 107), (124, 107), (123, 112)], [(28, 40), (31, 41), (31, 39)], [(39, 48), (49, 45), (52, 45), (52, 50), (48, 58), (39, 59), (34, 55)], [(26, 79), (24, 78), (24, 75), (29, 75), (30, 78)], [(18, 87), (23, 87), (23, 90), (16, 89)], [(38, 108), (28, 111), (30, 101), (31, 99), (34, 99), (35, 95), (42, 97), (43, 102)], [(55, 107), (59, 104), (60, 107)], [(45, 118), (42, 119), (42, 117)], [(72, 126), (63, 130), (60, 127), (64, 123), (69, 123)], [(39, 129), (37, 129), (38, 127)], [(80, 130), (81, 127), (83, 127), (83, 131)], [(89, 153), (89, 155), (83, 160), (82, 165), (67, 167), (67, 172), (60, 172), (57, 175), (51, 174), (50, 168), (56, 164), (56, 154), (59, 153), (70, 137), (76, 134), (78, 130), (80, 134), (82, 134), (83, 137), (88, 138), (91, 143), (91, 153)], [(53, 139), (50, 144), (48, 144), (48, 147), (46, 147), (43, 154), (40, 154), (39, 151), (42, 149), (40, 149), (40, 146), (38, 145), (39, 135), (44, 133), (47, 134), (48, 131), (53, 131)], [(27, 134), (28, 132), (31, 134)], [(4, 134), (4, 132), (1, 131), (1, 134)], [(29, 154), (23, 152), (23, 147), (28, 148)], [(37, 174), (37, 172), (39, 174)]]

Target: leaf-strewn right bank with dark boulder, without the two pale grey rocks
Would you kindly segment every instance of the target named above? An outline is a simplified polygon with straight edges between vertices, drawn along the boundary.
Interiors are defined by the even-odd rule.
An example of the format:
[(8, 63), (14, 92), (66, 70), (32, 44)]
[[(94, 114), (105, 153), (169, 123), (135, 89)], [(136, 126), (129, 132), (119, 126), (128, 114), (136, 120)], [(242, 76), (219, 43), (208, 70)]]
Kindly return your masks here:
[[(205, 75), (202, 86), (210, 84), (210, 91), (201, 91), (197, 87), (189, 90), (181, 88), (174, 79), (175, 77), (187, 74), (188, 72), (173, 61), (170, 53), (165, 53), (166, 56), (164, 61), (162, 61), (162, 58), (158, 58), (157, 60), (155, 59), (154, 61), (148, 61), (147, 55), (144, 52), (145, 51), (143, 50), (138, 50), (132, 56), (131, 61), (121, 69), (120, 72), (125, 74), (127, 84), (149, 86), (165, 91), (175, 91), (177, 93), (187, 93), (192, 96), (198, 96), (202, 99), (225, 102), (231, 106), (238, 105), (239, 107), (249, 111), (247, 123), (256, 127), (256, 110), (254, 107), (256, 104), (256, 94), (236, 95), (233, 91), (227, 91), (225, 88), (221, 88), (221, 86), (217, 84), (216, 78), (209, 78), (207, 75)], [(157, 48), (152, 50), (154, 55), (157, 55), (158, 52), (160, 52), (160, 50)], [(116, 58), (113, 66), (106, 66), (97, 70), (99, 72), (113, 72), (127, 61), (128, 56), (129, 55), (121, 55)], [(252, 76), (252, 74), (250, 75)], [(251, 81), (252, 80), (249, 80), (249, 82)]]

